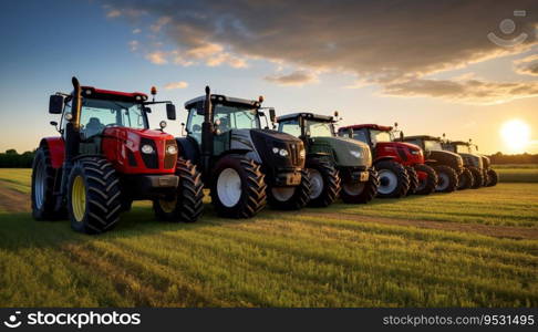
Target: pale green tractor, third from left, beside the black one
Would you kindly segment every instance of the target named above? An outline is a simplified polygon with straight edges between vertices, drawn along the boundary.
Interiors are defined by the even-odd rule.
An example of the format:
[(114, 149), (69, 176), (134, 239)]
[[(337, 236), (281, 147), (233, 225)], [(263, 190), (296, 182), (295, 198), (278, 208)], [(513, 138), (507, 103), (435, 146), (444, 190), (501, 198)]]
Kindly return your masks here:
[(370, 147), (355, 139), (338, 137), (332, 116), (293, 113), (276, 120), (271, 117), (271, 121), (278, 123), (279, 132), (304, 143), (311, 206), (328, 206), (339, 194), (344, 203), (351, 204), (368, 203), (375, 197), (380, 180), (372, 167)]

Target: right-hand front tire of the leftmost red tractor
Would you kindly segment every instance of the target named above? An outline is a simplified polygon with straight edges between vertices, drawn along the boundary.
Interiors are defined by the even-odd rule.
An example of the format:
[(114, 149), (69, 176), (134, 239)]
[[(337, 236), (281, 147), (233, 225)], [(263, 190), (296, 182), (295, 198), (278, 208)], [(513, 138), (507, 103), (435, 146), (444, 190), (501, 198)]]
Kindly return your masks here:
[(204, 184), (201, 175), (189, 160), (177, 159), (176, 175), (179, 177), (174, 199), (156, 199), (153, 210), (165, 221), (195, 222), (204, 208)]

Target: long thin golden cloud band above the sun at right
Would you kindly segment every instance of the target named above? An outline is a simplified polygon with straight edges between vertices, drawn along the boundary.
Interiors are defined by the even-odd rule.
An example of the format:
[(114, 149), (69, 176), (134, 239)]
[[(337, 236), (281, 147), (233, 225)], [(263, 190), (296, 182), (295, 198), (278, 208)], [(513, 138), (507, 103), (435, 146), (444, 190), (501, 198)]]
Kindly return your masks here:
[(496, 104), (538, 96), (538, 82), (488, 82), (416, 79), (387, 84), (383, 94), (394, 96), (433, 96), (470, 104)]

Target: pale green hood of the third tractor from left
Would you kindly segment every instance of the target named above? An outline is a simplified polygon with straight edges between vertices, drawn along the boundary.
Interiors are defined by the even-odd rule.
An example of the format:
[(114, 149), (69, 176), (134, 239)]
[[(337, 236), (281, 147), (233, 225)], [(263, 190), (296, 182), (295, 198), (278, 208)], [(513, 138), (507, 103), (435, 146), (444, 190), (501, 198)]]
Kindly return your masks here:
[(334, 154), (339, 166), (356, 167), (372, 166), (370, 146), (348, 137), (311, 137), (309, 153)]

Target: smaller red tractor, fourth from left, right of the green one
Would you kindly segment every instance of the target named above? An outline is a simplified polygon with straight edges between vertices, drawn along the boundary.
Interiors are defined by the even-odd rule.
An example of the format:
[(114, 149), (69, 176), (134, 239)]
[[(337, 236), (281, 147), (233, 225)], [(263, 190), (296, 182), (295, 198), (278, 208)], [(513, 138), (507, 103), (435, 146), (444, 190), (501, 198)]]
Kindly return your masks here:
[(370, 145), (374, 167), (380, 176), (377, 197), (397, 198), (435, 191), (437, 174), (424, 164), (422, 148), (414, 144), (394, 142), (393, 127), (360, 124), (341, 127), (338, 133)]

